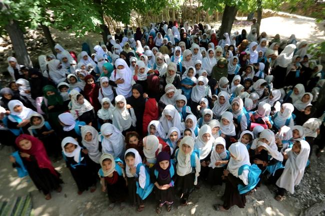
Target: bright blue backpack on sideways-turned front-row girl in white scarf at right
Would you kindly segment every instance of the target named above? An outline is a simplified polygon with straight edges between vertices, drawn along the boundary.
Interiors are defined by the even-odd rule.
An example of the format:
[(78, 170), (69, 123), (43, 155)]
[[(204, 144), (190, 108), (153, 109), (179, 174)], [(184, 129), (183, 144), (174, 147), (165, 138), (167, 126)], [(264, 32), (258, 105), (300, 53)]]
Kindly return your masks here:
[(262, 172), (257, 167), (256, 164), (253, 164), (251, 166), (245, 164), (245, 165), (242, 165), (238, 169), (238, 176), (240, 176), (242, 174), (243, 170), (249, 170), (249, 173), (248, 173), (248, 185), (239, 184), (237, 186), (239, 194), (245, 194), (245, 193), (251, 191), (252, 189), (254, 189), (256, 187), (257, 183), (259, 182), (259, 175)]

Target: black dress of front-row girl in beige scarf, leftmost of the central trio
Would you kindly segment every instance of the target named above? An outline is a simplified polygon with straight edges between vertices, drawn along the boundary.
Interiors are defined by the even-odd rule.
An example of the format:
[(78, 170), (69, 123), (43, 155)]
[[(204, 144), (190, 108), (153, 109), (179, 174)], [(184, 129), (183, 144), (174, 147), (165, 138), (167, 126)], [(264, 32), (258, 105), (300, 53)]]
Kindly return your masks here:
[(123, 176), (119, 176), (116, 171), (112, 177), (105, 179), (106, 191), (110, 203), (123, 202), (127, 197), (127, 187)]

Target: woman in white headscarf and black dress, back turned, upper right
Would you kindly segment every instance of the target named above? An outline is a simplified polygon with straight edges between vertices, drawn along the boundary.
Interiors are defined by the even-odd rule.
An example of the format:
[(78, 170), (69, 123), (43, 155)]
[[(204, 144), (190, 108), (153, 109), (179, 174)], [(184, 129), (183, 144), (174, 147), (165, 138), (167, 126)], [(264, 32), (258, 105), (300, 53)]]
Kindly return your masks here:
[(274, 75), (274, 88), (282, 88), (284, 86), (284, 80), (286, 76), (286, 70), (290, 62), (292, 61), (293, 52), (295, 45), (289, 44), (285, 46), (281, 54), (276, 58), (275, 69), (273, 70)]

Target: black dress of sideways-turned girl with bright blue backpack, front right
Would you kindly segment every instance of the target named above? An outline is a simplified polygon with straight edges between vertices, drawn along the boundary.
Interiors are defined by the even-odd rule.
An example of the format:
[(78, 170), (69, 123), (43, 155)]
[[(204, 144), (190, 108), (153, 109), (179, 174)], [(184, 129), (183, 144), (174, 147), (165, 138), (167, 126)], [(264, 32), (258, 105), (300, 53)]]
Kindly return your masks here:
[(223, 208), (228, 210), (230, 207), (236, 205), (239, 208), (244, 208), (246, 203), (246, 197), (244, 194), (240, 195), (238, 192), (238, 185), (244, 185), (243, 182), (234, 177), (231, 173), (228, 174), (225, 181), (225, 190), (223, 194)]

